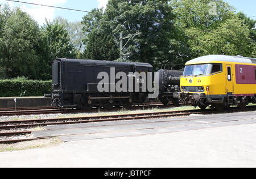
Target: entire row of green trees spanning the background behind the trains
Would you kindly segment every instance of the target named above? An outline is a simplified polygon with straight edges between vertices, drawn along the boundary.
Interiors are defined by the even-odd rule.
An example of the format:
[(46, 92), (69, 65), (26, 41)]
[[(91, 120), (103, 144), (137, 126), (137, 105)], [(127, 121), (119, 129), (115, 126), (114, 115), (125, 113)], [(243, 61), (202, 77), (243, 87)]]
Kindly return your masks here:
[(20, 8), (2, 5), (0, 79), (50, 80), (57, 57), (118, 61), (120, 32), (141, 32), (123, 49), (124, 61), (155, 67), (208, 54), (256, 57), (255, 23), (222, 0), (109, 0), (82, 22), (59, 17), (42, 27)]

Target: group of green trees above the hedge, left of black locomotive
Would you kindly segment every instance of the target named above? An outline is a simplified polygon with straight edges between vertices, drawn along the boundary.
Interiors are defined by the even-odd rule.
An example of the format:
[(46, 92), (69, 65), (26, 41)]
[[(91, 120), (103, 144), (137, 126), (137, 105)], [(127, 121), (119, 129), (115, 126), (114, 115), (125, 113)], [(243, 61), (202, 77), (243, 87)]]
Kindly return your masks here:
[(56, 57), (75, 57), (68, 31), (58, 22), (39, 27), (20, 8), (0, 8), (0, 79), (51, 79)]

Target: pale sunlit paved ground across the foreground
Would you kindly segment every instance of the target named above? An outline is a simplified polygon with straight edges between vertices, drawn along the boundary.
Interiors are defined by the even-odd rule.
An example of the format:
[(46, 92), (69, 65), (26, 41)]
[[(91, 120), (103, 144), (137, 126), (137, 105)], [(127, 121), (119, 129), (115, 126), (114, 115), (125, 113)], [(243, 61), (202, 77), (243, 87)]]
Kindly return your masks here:
[(111, 127), (49, 126), (38, 135), (72, 142), (3, 152), (0, 167), (256, 167), (255, 117), (249, 112), (115, 122)]

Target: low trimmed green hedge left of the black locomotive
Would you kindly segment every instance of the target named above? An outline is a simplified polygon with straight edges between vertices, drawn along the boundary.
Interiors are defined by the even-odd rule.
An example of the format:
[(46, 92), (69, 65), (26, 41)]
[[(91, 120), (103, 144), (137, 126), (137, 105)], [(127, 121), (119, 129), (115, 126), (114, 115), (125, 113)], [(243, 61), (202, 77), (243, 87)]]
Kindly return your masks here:
[(44, 96), (51, 91), (52, 81), (24, 78), (0, 80), (0, 97)]

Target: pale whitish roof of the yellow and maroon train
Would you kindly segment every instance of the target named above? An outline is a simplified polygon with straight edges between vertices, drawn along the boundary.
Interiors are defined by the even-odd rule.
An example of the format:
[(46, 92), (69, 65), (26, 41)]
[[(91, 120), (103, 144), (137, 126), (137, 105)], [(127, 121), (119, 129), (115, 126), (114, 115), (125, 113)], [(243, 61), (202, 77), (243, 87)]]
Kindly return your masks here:
[[(243, 56), (224, 56), (224, 55), (210, 55), (192, 59), (188, 64), (192, 63), (205, 63), (208, 61), (225, 61), (225, 62), (238, 62), (238, 63), (256, 63), (256, 58), (249, 58)], [(186, 65), (187, 65), (186, 63)]]

